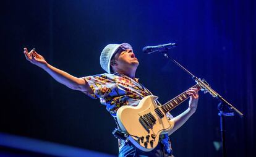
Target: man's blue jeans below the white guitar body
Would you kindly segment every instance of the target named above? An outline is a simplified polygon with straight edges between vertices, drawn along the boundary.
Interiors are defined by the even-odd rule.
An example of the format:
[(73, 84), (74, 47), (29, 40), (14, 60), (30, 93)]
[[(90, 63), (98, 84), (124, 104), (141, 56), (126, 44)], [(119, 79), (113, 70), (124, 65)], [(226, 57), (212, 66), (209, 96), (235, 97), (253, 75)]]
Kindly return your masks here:
[(127, 142), (122, 146), (121, 150), (119, 150), (119, 157), (174, 157), (164, 151), (164, 146), (162, 143), (158, 143), (155, 149), (151, 151), (142, 151), (136, 148), (131, 142)]

